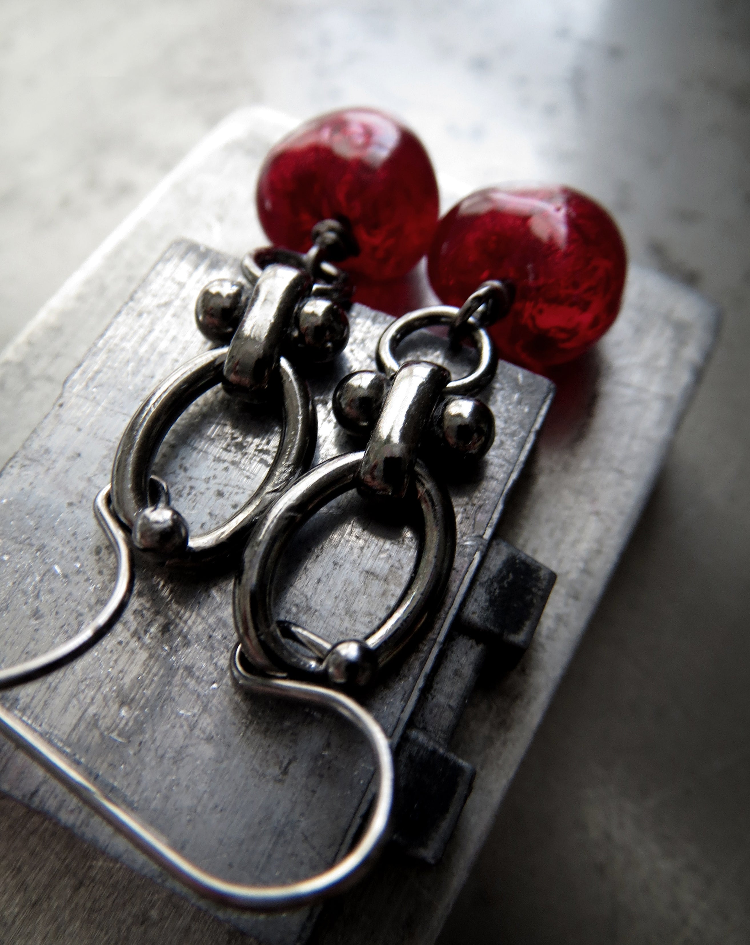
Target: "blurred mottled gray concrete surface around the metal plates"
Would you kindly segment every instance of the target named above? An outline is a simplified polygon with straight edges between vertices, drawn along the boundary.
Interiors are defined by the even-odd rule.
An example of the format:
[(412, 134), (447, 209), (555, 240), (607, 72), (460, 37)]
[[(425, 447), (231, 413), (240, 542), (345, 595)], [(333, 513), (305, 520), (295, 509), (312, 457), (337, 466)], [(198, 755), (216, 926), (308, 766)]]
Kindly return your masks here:
[[(456, 178), (581, 187), (634, 261), (723, 306), (703, 387), (441, 941), (747, 942), (750, 5), (2, 0), (0, 342), (254, 102), (378, 105)], [(9, 801), (0, 829), (17, 831), (0, 864), (14, 941), (62, 940), (64, 917), (66, 941), (239, 940), (125, 875), (132, 922), (105, 930), (105, 858), (81, 845), (45, 862), (43, 819)], [(15, 870), (13, 851), (37, 867)]]

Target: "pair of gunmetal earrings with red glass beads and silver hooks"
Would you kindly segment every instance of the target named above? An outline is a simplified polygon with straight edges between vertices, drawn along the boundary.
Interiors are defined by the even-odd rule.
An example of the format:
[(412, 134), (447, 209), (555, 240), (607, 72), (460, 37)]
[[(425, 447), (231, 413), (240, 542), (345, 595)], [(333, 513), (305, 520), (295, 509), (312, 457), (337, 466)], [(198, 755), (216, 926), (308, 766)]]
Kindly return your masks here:
[[(261, 174), (258, 209), (266, 232), (281, 247), (249, 253), (243, 261), (242, 282), (210, 283), (200, 293), (197, 325), (221, 347), (168, 377), (136, 411), (118, 446), (111, 486), (97, 496), (97, 517), (119, 560), (110, 602), (70, 643), (0, 674), (0, 684), (5, 685), (32, 679), (94, 644), (127, 604), (132, 587), (131, 544), (167, 565), (191, 567), (219, 558), (236, 560), (247, 541), (235, 582), (233, 610), (239, 644), (231, 659), (234, 679), (243, 687), (312, 701), (342, 713), (365, 733), (375, 757), (379, 783), (371, 816), (358, 843), (334, 867), (300, 883), (272, 887), (217, 879), (102, 795), (25, 723), (5, 711), (0, 713), (0, 726), (19, 747), (200, 895), (260, 911), (316, 902), (359, 877), (384, 843), (393, 798), (390, 747), (377, 722), (347, 690), (371, 684), (413, 639), (439, 603), (450, 576), (455, 542), (451, 500), (435, 477), (434, 464), (425, 458), (442, 451), (476, 459), (491, 445), (491, 412), (474, 396), (491, 382), (497, 366), (491, 335), (500, 339), (507, 353), (508, 339), (529, 334), (531, 316), (537, 328), (549, 328), (547, 309), (556, 306), (560, 318), (563, 310), (570, 315), (572, 309), (584, 319), (590, 317), (586, 330), (590, 337), (592, 331), (602, 329), (609, 316), (601, 313), (611, 314), (613, 298), (619, 303), (622, 292), (623, 253), (621, 258), (613, 251), (603, 268), (602, 244), (598, 244), (587, 275), (580, 267), (584, 243), (573, 239), (581, 232), (590, 236), (586, 219), (588, 224), (593, 219), (600, 236), (606, 231), (608, 217), (601, 208), (571, 192), (554, 192), (557, 197), (550, 200), (540, 197), (540, 191), (534, 197), (518, 193), (500, 210), (497, 199), (488, 198), (487, 192), (472, 195), (438, 224), (435, 176), (424, 148), (411, 132), (376, 112), (324, 116), (276, 146)], [(588, 217), (581, 210), (584, 205)], [(473, 214), (466, 209), (472, 206)], [(438, 294), (443, 295), (441, 279), (450, 291), (460, 292), (456, 286), (463, 275), (443, 276), (450, 269), (446, 260), (455, 252), (455, 233), (464, 232), (466, 278), (473, 278), (471, 266), (479, 265), (482, 252), (491, 256), (496, 245), (488, 240), (480, 252), (477, 227), (486, 231), (488, 222), (497, 223), (503, 215), (514, 225), (525, 220), (526, 230), (549, 259), (554, 252), (565, 256), (566, 240), (571, 239), (571, 259), (566, 265), (571, 269), (569, 282), (577, 280), (578, 295), (571, 294), (569, 285), (566, 296), (566, 286), (558, 284), (558, 297), (552, 298), (552, 277), (541, 271), (541, 257), (528, 259), (525, 270), (520, 263), (513, 264), (516, 268), (508, 263), (511, 274), (520, 273), (513, 279), (506, 278), (500, 258), (496, 260), (499, 269), (482, 268), (482, 278), (477, 280), (481, 284), (473, 283), (460, 307), (436, 305), (394, 321), (380, 339), (380, 370), (349, 375), (333, 395), (336, 419), (349, 433), (366, 438), (365, 448), (305, 472), (315, 450), (316, 414), (300, 369), (306, 361), (331, 360), (347, 343), (352, 287), (344, 267), (355, 274), (398, 277), (430, 249), (430, 273)], [(304, 237), (299, 237), (296, 228), (306, 228)], [(592, 301), (587, 286), (597, 279), (599, 294)], [(535, 280), (544, 290), (536, 301), (529, 294)], [(444, 291), (450, 298), (449, 289)], [(503, 325), (512, 325), (519, 305), (516, 334), (499, 334)], [(546, 320), (542, 318), (545, 312)], [(433, 325), (447, 326), (454, 345), (473, 340), (478, 365), (468, 377), (452, 379), (446, 369), (429, 361), (399, 363), (396, 350), (405, 336)], [(579, 348), (585, 334), (582, 329)], [(548, 363), (559, 360), (560, 352), (569, 355), (574, 349), (570, 332), (559, 335), (565, 344), (557, 344), (554, 356), (549, 333), (543, 342), (538, 341), (539, 332), (532, 335), (536, 347), (520, 345), (519, 352), (547, 352)], [(170, 505), (165, 484), (151, 475), (151, 467), (171, 425), (216, 384), (251, 404), (281, 402), (281, 439), (259, 489), (227, 523), (194, 538)], [(284, 546), (298, 526), (333, 497), (354, 488), (376, 503), (417, 507), (420, 554), (396, 607), (366, 640), (333, 645), (305, 627), (276, 621), (271, 589)]]

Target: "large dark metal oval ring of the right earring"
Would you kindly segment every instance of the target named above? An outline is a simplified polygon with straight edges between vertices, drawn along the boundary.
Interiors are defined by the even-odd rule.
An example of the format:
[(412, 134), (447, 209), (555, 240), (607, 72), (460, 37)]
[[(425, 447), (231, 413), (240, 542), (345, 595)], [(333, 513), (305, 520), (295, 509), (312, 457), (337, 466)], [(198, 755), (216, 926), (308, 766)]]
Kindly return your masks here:
[[(302, 476), (269, 509), (247, 541), (242, 571), (234, 583), (234, 627), (247, 659), (266, 673), (279, 676), (291, 672), (312, 678), (325, 673), (325, 654), (319, 647), (323, 644), (331, 649), (333, 644), (298, 627), (298, 643), (318, 644), (318, 654), (306, 656), (298, 644), (284, 638), (272, 613), (274, 577), (284, 548), (298, 527), (336, 496), (356, 487), (364, 455), (336, 456)], [(451, 574), (455, 551), (451, 498), (420, 461), (415, 467), (413, 496), (423, 520), (418, 560), (396, 606), (365, 640), (378, 658), (378, 667), (392, 659), (418, 630), (442, 597)]]

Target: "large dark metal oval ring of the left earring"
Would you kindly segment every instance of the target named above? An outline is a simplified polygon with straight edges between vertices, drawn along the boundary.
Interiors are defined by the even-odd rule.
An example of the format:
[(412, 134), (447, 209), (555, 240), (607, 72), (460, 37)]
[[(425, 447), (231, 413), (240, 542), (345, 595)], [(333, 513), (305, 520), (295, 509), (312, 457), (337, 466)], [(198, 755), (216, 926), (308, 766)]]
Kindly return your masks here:
[[(111, 503), (120, 520), (132, 528), (149, 507), (148, 483), (162, 439), (182, 412), (222, 380), (227, 348), (200, 354), (170, 374), (132, 416), (120, 439), (112, 466)], [(286, 360), (278, 369), (281, 388), (281, 440), (261, 485), (228, 522), (196, 538), (169, 564), (197, 564), (230, 553), (236, 541), (265, 509), (310, 465), (315, 450), (317, 417), (305, 381)]]

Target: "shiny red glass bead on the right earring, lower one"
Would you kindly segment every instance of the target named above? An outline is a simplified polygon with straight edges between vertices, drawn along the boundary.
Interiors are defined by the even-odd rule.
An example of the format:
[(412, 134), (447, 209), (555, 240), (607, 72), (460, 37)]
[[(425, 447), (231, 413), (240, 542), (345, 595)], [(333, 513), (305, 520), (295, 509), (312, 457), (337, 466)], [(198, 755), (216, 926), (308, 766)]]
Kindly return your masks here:
[(508, 361), (540, 370), (605, 334), (622, 300), (627, 257), (610, 215), (568, 187), (479, 190), (438, 223), (429, 256), (439, 299), (461, 305), (486, 279), (516, 285), (490, 329)]

